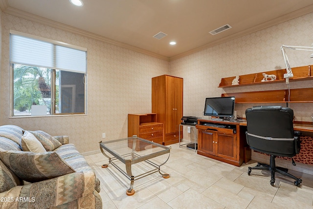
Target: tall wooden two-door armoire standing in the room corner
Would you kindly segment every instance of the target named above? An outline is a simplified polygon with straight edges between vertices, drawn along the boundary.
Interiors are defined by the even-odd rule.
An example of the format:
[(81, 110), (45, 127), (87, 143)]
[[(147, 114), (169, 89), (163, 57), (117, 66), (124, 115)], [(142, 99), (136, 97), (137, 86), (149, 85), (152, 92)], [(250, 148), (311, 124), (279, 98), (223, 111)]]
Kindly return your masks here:
[[(170, 75), (152, 78), (152, 112), (156, 113), (156, 122), (164, 124), (164, 145), (179, 142), (182, 94), (182, 78)], [(182, 130), (180, 134), (182, 136)]]

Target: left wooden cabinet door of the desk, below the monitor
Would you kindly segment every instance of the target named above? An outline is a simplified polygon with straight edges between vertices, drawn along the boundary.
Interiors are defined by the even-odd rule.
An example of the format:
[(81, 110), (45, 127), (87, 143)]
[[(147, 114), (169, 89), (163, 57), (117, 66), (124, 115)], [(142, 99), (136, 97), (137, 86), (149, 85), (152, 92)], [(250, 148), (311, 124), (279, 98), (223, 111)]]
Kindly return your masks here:
[(198, 136), (198, 149), (208, 154), (215, 154), (215, 133), (208, 130), (200, 130)]

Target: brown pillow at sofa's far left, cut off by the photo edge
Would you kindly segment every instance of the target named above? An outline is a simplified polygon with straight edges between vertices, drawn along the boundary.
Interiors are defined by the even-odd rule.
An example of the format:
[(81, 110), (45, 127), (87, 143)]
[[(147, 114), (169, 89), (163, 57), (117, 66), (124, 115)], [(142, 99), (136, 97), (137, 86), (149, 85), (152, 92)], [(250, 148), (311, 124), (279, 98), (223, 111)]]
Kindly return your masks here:
[(19, 185), (22, 185), (22, 181), (0, 161), (0, 192), (7, 191)]

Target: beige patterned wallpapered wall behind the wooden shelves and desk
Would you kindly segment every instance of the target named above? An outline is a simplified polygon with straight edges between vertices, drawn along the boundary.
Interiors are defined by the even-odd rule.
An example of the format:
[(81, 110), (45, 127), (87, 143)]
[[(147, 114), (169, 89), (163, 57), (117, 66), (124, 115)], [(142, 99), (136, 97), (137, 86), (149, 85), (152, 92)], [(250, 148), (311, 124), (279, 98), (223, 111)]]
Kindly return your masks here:
[[(285, 83), (217, 88), (223, 77), (284, 69), (280, 47), (311, 46), (313, 13), (234, 39), (170, 62), (171, 74), (184, 78), (184, 115), (202, 116), (206, 97), (221, 93), (287, 89)], [(291, 67), (313, 64), (311, 51), (287, 50)], [(313, 87), (313, 81), (291, 82), (291, 89)], [(236, 104), (238, 115), (247, 107), (261, 104)], [(263, 104), (265, 105), (265, 104)], [(278, 104), (286, 107), (286, 103)], [(312, 121), (313, 103), (292, 103), (296, 120)]]

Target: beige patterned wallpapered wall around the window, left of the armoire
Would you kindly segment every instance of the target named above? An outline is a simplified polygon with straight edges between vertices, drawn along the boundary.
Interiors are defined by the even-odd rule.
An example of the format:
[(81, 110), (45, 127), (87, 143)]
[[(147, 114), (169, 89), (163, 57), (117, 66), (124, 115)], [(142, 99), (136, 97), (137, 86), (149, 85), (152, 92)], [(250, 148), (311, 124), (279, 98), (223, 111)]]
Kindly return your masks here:
[[(9, 30), (88, 49), (88, 115), (9, 118)], [(0, 124), (68, 135), (80, 152), (99, 150), (98, 141), (127, 137), (127, 114), (151, 112), (151, 78), (169, 73), (169, 62), (2, 13)], [(106, 139), (102, 139), (106, 133)]]

